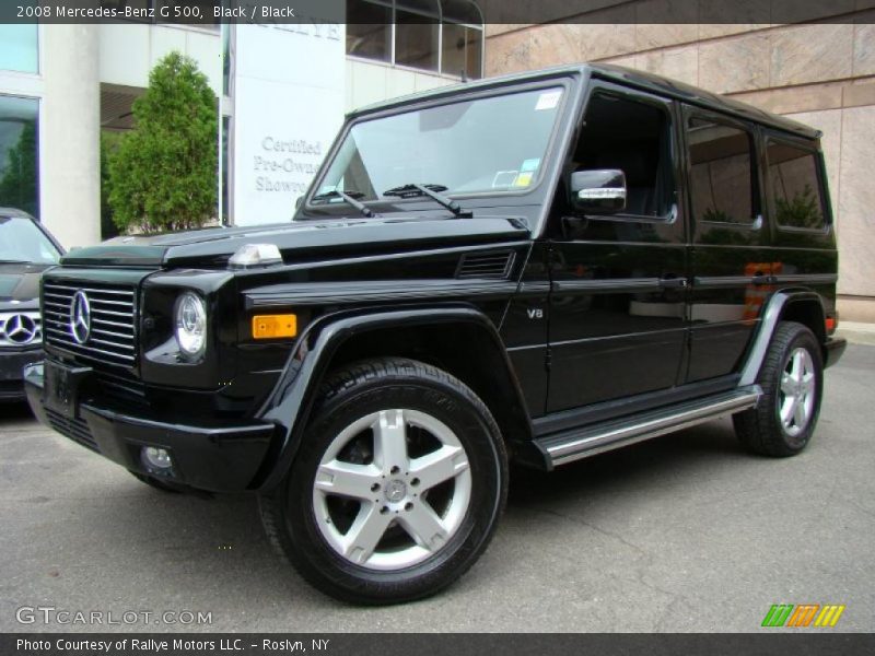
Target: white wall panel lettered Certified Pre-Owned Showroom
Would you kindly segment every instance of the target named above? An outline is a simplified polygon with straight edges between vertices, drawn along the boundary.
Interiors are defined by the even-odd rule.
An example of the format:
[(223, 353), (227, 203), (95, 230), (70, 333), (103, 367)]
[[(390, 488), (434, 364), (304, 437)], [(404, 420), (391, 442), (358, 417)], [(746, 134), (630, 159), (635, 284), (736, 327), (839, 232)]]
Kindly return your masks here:
[(289, 221), (343, 121), (346, 25), (237, 25), (237, 225)]

